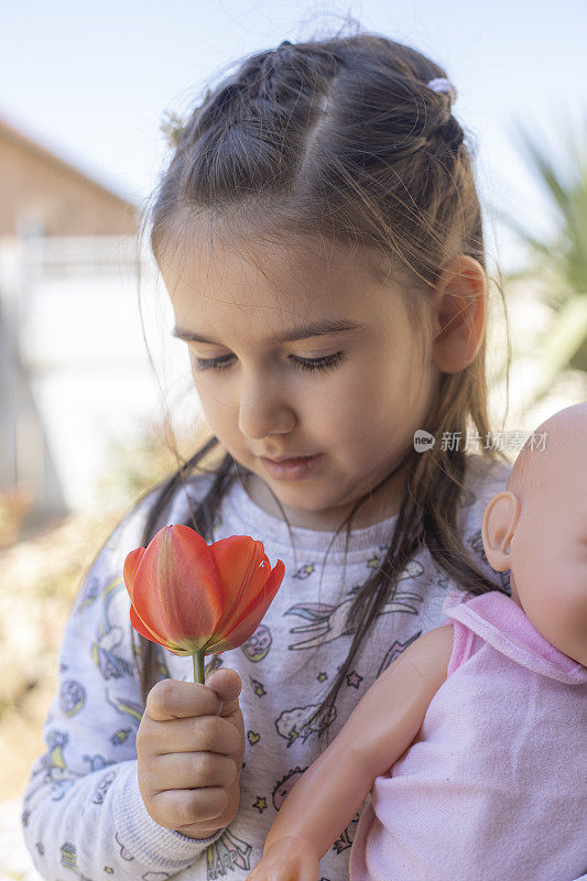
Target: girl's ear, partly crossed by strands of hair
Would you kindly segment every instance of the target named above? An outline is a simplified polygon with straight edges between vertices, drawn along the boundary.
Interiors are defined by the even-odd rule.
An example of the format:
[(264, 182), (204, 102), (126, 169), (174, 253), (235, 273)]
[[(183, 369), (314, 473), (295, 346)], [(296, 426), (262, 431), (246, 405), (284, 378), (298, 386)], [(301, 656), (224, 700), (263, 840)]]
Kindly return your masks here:
[(481, 264), (458, 254), (444, 267), (432, 301), (432, 361), (442, 373), (470, 365), (485, 336), (487, 278)]

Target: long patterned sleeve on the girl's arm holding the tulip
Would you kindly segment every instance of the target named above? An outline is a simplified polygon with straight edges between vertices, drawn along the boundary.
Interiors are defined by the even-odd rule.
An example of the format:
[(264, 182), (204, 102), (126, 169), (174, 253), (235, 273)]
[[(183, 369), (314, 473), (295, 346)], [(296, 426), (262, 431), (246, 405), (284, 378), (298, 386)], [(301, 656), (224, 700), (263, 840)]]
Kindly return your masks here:
[[(112, 532), (84, 578), (67, 621), (58, 689), (31, 769), (22, 828), (33, 862), (54, 881), (138, 881), (192, 866), (224, 830), (195, 840), (160, 826), (142, 801), (135, 736), (144, 710), (122, 569), (139, 546), (148, 502)], [(169, 673), (162, 670), (162, 676)]]

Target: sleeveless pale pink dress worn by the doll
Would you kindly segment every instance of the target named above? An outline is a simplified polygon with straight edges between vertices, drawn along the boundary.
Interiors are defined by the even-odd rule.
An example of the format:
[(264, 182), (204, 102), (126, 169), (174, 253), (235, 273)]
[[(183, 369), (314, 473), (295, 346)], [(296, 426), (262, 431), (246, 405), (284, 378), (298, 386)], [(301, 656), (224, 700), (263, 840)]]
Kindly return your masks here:
[(350, 881), (573, 881), (587, 868), (587, 668), (497, 590), (453, 590), (443, 613), (447, 679), (373, 783)]

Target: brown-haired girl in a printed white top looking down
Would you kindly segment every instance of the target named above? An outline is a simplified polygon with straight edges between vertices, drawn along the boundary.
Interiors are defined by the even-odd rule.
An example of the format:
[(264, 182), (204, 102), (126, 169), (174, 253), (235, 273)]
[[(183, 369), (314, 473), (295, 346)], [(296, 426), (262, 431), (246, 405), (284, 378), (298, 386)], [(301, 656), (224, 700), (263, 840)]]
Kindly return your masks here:
[[(296, 779), (443, 622), (447, 587), (509, 592), (480, 541), (510, 466), (489, 434), (481, 214), (454, 99), (383, 36), (285, 41), (178, 130), (151, 244), (213, 436), (80, 586), (23, 802), (44, 878), (244, 879)], [(169, 523), (250, 534), (285, 564), (206, 685), (129, 622), (124, 558)], [(348, 877), (358, 819), (327, 881)]]

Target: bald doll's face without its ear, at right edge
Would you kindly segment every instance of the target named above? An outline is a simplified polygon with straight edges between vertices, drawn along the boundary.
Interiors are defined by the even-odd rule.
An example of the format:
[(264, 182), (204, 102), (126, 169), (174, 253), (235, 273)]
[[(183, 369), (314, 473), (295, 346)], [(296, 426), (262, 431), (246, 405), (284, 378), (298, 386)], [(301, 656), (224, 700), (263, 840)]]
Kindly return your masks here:
[(587, 420), (583, 431), (574, 427), (564, 437), (554, 432), (544, 450), (512, 471), (509, 488), (521, 513), (510, 584), (536, 630), (587, 666)]

